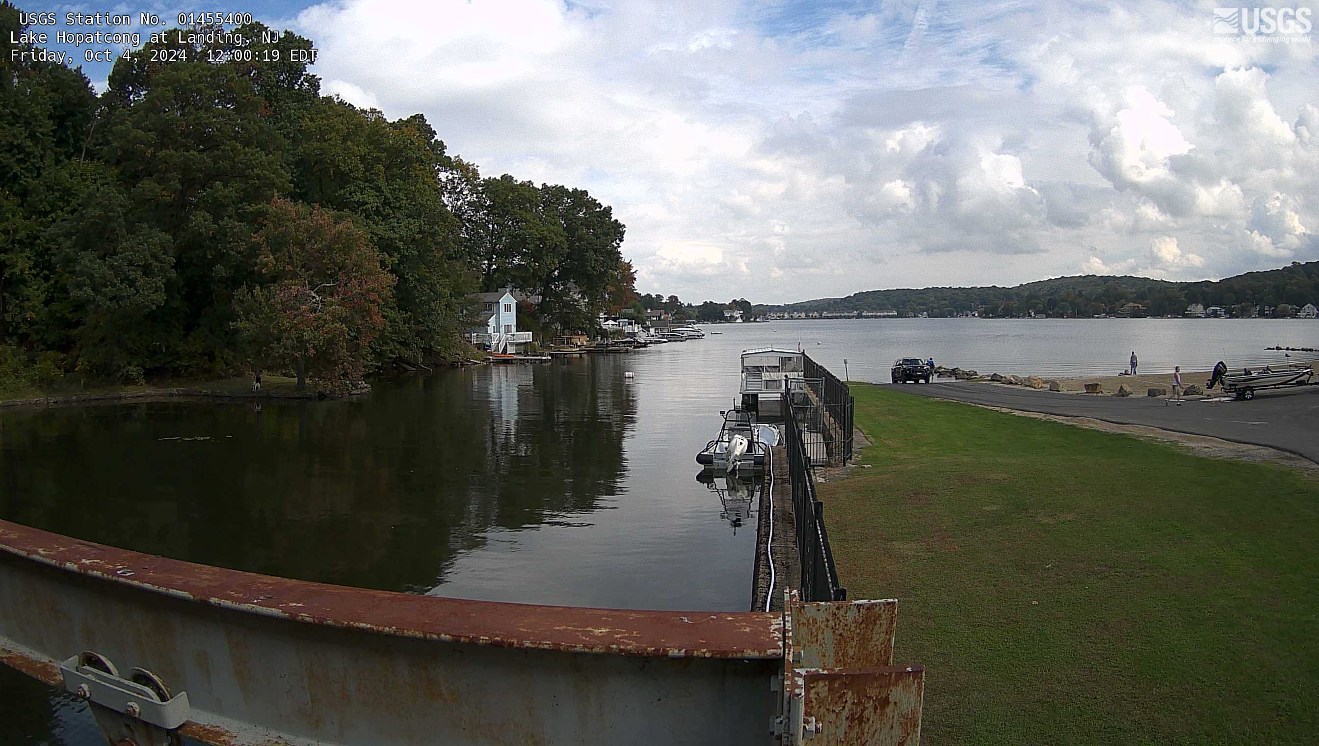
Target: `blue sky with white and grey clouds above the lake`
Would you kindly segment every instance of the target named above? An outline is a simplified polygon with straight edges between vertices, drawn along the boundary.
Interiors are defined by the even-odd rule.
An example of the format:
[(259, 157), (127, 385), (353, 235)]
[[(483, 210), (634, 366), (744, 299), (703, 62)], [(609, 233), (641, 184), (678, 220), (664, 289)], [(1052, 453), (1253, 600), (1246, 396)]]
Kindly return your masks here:
[[(640, 292), (780, 304), (1319, 259), (1319, 4), (216, 9), (311, 38), (322, 92), (425, 114), (484, 176), (587, 189), (627, 224)], [(103, 87), (109, 65), (83, 70)]]

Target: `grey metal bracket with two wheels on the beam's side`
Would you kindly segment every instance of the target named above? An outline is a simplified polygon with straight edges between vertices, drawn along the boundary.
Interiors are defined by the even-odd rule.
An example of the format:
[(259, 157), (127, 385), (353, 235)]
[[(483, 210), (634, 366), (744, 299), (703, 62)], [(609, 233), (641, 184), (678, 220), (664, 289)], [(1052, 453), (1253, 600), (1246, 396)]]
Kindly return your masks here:
[(59, 673), (65, 691), (91, 702), (111, 743), (169, 746), (181, 741), (173, 731), (187, 722), (187, 692), (170, 697), (150, 671), (133, 668), (129, 679), (123, 679), (113, 663), (88, 651), (62, 661)]

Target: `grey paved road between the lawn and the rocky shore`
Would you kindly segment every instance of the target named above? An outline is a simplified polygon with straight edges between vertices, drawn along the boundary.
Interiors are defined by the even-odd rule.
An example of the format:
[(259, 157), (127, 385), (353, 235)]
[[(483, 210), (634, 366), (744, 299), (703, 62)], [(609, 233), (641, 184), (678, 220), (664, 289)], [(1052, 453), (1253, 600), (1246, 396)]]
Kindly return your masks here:
[(1124, 425), (1150, 425), (1213, 436), (1266, 445), (1319, 462), (1319, 386), (1258, 391), (1254, 401), (1187, 400), (1182, 407), (1167, 407), (1162, 399), (1145, 396), (1086, 396), (968, 382), (881, 386), (921, 396), (1005, 409), (1093, 417)]

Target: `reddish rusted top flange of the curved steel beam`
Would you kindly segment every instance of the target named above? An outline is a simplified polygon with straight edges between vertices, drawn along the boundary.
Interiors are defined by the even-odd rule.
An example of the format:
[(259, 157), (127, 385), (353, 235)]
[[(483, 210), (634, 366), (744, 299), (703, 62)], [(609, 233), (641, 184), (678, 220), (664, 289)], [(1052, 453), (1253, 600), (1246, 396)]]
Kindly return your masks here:
[(0, 522), (0, 552), (187, 601), (386, 635), (667, 658), (782, 658), (773, 613), (632, 611), (500, 603), (260, 576)]

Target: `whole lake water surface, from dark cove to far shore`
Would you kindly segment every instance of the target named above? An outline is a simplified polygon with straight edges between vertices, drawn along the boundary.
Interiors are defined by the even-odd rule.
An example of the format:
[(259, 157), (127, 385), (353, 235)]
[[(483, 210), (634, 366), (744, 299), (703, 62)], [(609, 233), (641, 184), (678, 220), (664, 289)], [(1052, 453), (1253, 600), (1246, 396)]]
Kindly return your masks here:
[[(1097, 375), (1283, 360), (1319, 322), (844, 320), (720, 325), (632, 354), (377, 382), (344, 401), (0, 412), (0, 518), (249, 572), (496, 601), (744, 610), (754, 515), (695, 479), (737, 355), (839, 376), (894, 358)], [(1314, 358), (1316, 355), (1306, 355)], [(624, 376), (632, 372), (634, 378)], [(740, 526), (735, 526), (739, 524)], [(0, 671), (0, 743), (100, 746), (80, 702)], [(7, 708), (11, 709), (12, 708)]]

